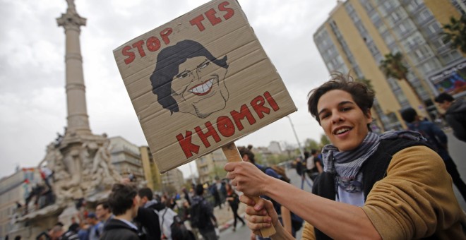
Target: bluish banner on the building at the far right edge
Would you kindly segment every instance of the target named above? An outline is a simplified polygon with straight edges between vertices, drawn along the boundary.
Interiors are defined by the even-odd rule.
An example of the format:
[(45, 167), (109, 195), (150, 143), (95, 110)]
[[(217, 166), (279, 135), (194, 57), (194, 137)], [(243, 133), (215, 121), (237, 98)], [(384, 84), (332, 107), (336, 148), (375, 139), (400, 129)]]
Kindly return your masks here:
[(429, 81), (437, 93), (447, 92), (456, 95), (466, 90), (466, 59), (458, 64), (450, 65), (429, 76)]

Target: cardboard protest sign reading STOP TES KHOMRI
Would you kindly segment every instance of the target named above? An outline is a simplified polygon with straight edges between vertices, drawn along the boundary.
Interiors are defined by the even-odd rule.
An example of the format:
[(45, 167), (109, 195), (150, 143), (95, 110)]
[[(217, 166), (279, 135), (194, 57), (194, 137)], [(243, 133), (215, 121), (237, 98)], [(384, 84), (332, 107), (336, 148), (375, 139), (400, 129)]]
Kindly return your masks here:
[(162, 173), (297, 110), (235, 0), (210, 1), (114, 56)]

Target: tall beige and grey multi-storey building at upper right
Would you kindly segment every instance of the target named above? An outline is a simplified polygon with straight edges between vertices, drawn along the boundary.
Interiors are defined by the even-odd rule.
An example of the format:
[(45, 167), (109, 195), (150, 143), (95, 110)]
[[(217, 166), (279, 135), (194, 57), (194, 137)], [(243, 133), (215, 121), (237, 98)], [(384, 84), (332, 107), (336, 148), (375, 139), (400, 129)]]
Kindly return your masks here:
[[(461, 9), (454, 0), (337, 1), (313, 39), (329, 72), (349, 72), (371, 81), (376, 92), (374, 128), (399, 129), (405, 126), (400, 110), (407, 107), (422, 116), (437, 116), (437, 92), (427, 79), (465, 59), (441, 37), (442, 25), (451, 16), (459, 18)], [(386, 78), (381, 70), (384, 56), (397, 52), (404, 56), (407, 80), (422, 102), (405, 81)]]

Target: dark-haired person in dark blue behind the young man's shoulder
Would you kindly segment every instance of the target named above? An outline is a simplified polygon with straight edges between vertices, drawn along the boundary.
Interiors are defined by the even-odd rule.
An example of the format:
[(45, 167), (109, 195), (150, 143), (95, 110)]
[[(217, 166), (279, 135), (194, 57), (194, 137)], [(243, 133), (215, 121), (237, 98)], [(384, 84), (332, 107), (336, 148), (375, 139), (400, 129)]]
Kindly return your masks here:
[(442, 157), (447, 172), (453, 179), (453, 184), (460, 191), (462, 198), (466, 200), (466, 184), (462, 181), (455, 162), (453, 162), (450, 154), (448, 154), (448, 138), (446, 134), (436, 124), (422, 120), (412, 107), (404, 109), (401, 112), (401, 116), (407, 122), (408, 129), (421, 133), (431, 147)]

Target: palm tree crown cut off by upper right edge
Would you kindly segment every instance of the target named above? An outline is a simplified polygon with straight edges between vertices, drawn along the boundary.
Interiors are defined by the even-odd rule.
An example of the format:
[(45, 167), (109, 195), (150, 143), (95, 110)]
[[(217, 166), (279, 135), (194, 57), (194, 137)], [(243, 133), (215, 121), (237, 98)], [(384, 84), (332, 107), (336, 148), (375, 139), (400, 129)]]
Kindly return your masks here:
[(466, 54), (466, 15), (463, 14), (460, 19), (453, 16), (450, 18), (450, 23), (443, 25), (443, 42), (451, 42), (452, 49), (460, 49)]

